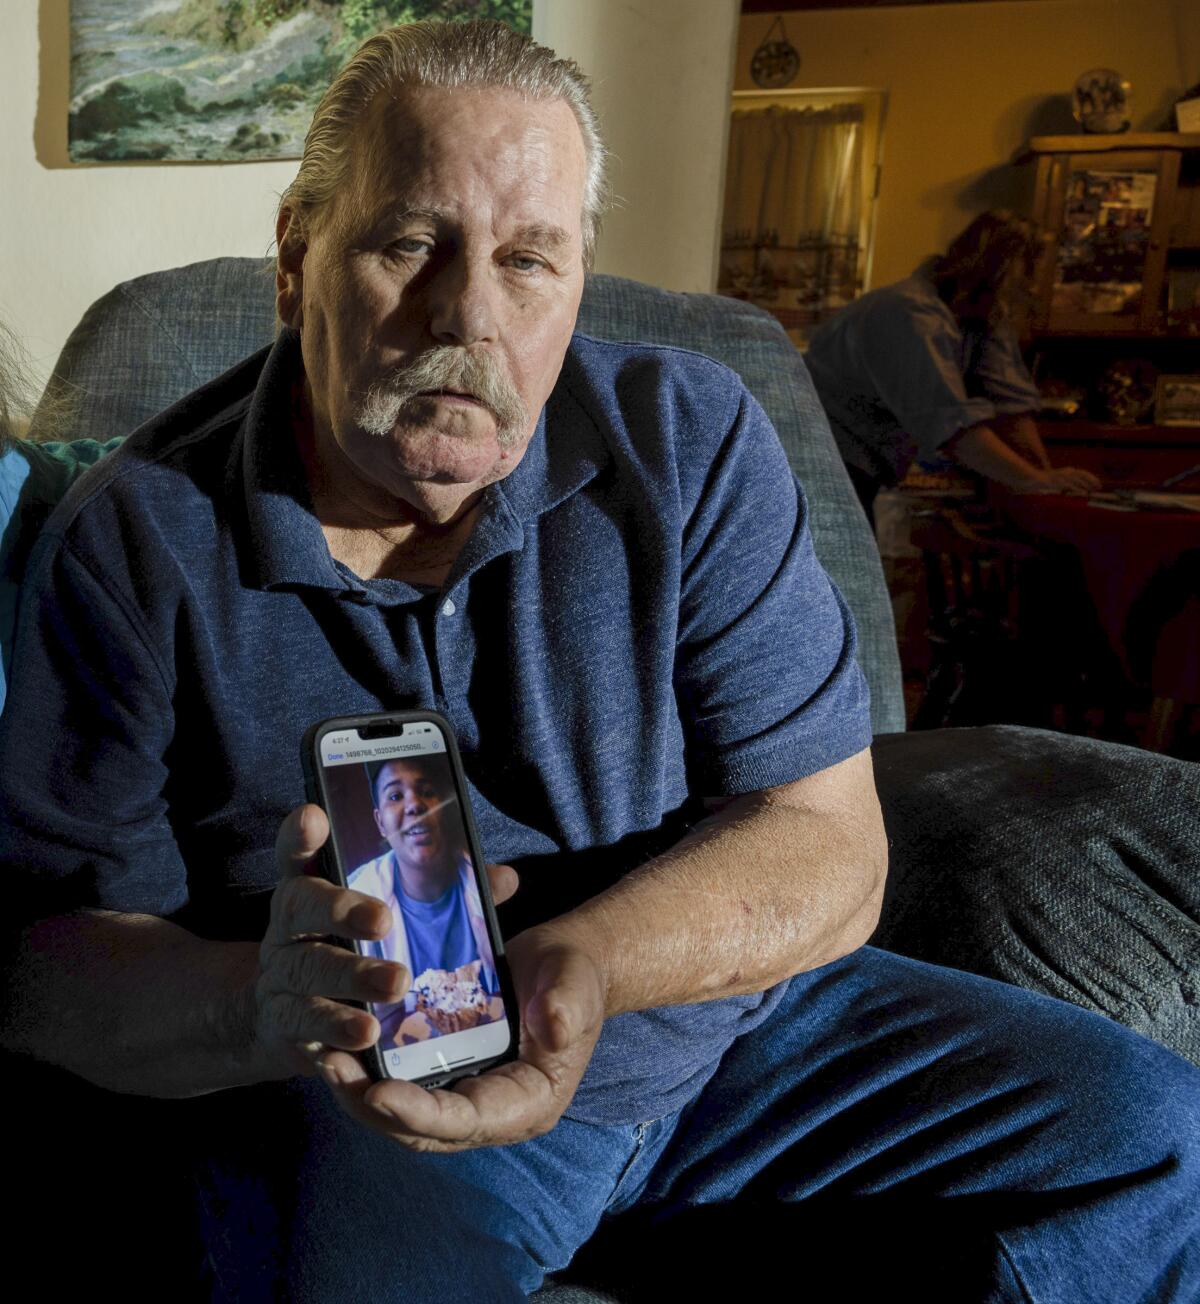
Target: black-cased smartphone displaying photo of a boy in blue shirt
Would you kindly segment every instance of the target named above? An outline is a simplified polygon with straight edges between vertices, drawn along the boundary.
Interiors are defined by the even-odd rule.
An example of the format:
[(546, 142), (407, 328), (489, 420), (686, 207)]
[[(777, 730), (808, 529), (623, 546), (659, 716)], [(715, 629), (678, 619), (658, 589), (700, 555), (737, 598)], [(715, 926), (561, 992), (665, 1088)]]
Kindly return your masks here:
[(410, 988), (369, 1003), (376, 1080), (446, 1086), (514, 1059), (517, 1001), (458, 745), (434, 711), (322, 720), (304, 735), (308, 798), (329, 816), (333, 883), (378, 897), (393, 926), (363, 956), (395, 960)]

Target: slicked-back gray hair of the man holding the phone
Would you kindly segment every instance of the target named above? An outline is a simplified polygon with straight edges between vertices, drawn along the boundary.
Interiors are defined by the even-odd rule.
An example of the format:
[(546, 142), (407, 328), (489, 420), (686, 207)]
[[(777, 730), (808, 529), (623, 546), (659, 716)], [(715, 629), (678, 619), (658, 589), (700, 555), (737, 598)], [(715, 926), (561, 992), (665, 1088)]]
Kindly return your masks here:
[(533, 99), (561, 99), (575, 115), (587, 156), (583, 190), (583, 265), (591, 269), (600, 219), (608, 207), (608, 151), (578, 64), (502, 22), (411, 22), (368, 38), (317, 106), (296, 180), (279, 209), (301, 227), (320, 222), (347, 181), (353, 133), (377, 95), (403, 86), (502, 87)]

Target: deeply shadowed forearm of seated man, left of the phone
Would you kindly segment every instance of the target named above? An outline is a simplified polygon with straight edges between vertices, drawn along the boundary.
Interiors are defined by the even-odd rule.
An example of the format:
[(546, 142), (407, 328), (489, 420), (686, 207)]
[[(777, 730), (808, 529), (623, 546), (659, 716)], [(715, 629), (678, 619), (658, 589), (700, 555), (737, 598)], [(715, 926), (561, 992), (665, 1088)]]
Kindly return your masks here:
[(3, 1041), (99, 1086), (185, 1097), (274, 1076), (250, 1035), (257, 947), (151, 915), (85, 910), (29, 928)]

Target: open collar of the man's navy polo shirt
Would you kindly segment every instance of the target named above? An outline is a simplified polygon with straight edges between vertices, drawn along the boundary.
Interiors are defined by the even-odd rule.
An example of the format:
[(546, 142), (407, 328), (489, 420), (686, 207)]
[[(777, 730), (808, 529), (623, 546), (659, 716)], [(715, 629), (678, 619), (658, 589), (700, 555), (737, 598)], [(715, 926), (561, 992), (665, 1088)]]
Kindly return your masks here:
[[(582, 489), (609, 460), (603, 433), (566, 379), (574, 368), (573, 352), (574, 347), (524, 456), (484, 493), (479, 520), (454, 567), (455, 578), (523, 548), (526, 526)], [(292, 395), (301, 368), (299, 333), (280, 330), (245, 416), (244, 489), (256, 587), (361, 593), (363, 584), (330, 556), (313, 512), (292, 426)], [(408, 587), (389, 583), (398, 589)]]

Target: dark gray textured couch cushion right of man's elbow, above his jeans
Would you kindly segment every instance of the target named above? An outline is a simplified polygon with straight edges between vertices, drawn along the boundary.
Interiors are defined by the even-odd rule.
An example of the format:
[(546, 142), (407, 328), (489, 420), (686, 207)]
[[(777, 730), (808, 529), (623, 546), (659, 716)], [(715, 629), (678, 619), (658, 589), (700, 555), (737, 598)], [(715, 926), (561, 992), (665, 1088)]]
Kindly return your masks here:
[(871, 941), (1098, 1011), (1200, 1064), (1200, 765), (994, 725), (875, 739)]

